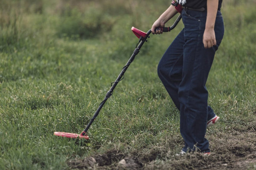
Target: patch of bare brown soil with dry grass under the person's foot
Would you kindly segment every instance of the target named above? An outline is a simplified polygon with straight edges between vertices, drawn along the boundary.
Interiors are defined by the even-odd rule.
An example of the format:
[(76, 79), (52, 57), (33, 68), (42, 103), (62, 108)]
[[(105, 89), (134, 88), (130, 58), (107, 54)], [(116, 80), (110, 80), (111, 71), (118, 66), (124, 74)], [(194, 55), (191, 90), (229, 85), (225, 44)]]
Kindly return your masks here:
[(210, 156), (201, 153), (174, 156), (164, 149), (168, 147), (151, 147), (147, 152), (143, 149), (122, 153), (113, 149), (84, 159), (70, 159), (67, 163), (70, 169), (256, 170), (256, 121), (233, 125), (227, 132), (209, 135), (207, 139)]

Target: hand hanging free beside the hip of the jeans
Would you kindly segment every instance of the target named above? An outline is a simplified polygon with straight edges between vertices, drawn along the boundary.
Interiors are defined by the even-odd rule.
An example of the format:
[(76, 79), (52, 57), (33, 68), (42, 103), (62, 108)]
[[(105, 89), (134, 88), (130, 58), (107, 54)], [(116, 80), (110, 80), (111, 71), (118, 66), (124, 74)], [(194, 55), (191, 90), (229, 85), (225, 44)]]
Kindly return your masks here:
[(216, 45), (216, 38), (214, 28), (209, 28), (204, 30), (203, 35), (203, 44), (204, 48), (211, 48), (213, 45)]

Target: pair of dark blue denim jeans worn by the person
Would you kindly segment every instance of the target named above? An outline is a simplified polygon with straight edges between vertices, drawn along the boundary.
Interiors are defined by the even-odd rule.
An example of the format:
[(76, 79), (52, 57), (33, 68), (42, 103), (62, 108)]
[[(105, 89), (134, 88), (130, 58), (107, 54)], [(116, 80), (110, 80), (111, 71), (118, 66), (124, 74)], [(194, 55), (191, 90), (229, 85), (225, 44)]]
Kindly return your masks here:
[(180, 110), (180, 133), (185, 141), (183, 151), (210, 152), (205, 138), (207, 120), (215, 116), (208, 106), (206, 81), (216, 50), (224, 34), (221, 12), (217, 12), (215, 35), (217, 45), (204, 48), (203, 33), (207, 11), (182, 11), (184, 29), (164, 53), (158, 65), (158, 76)]

